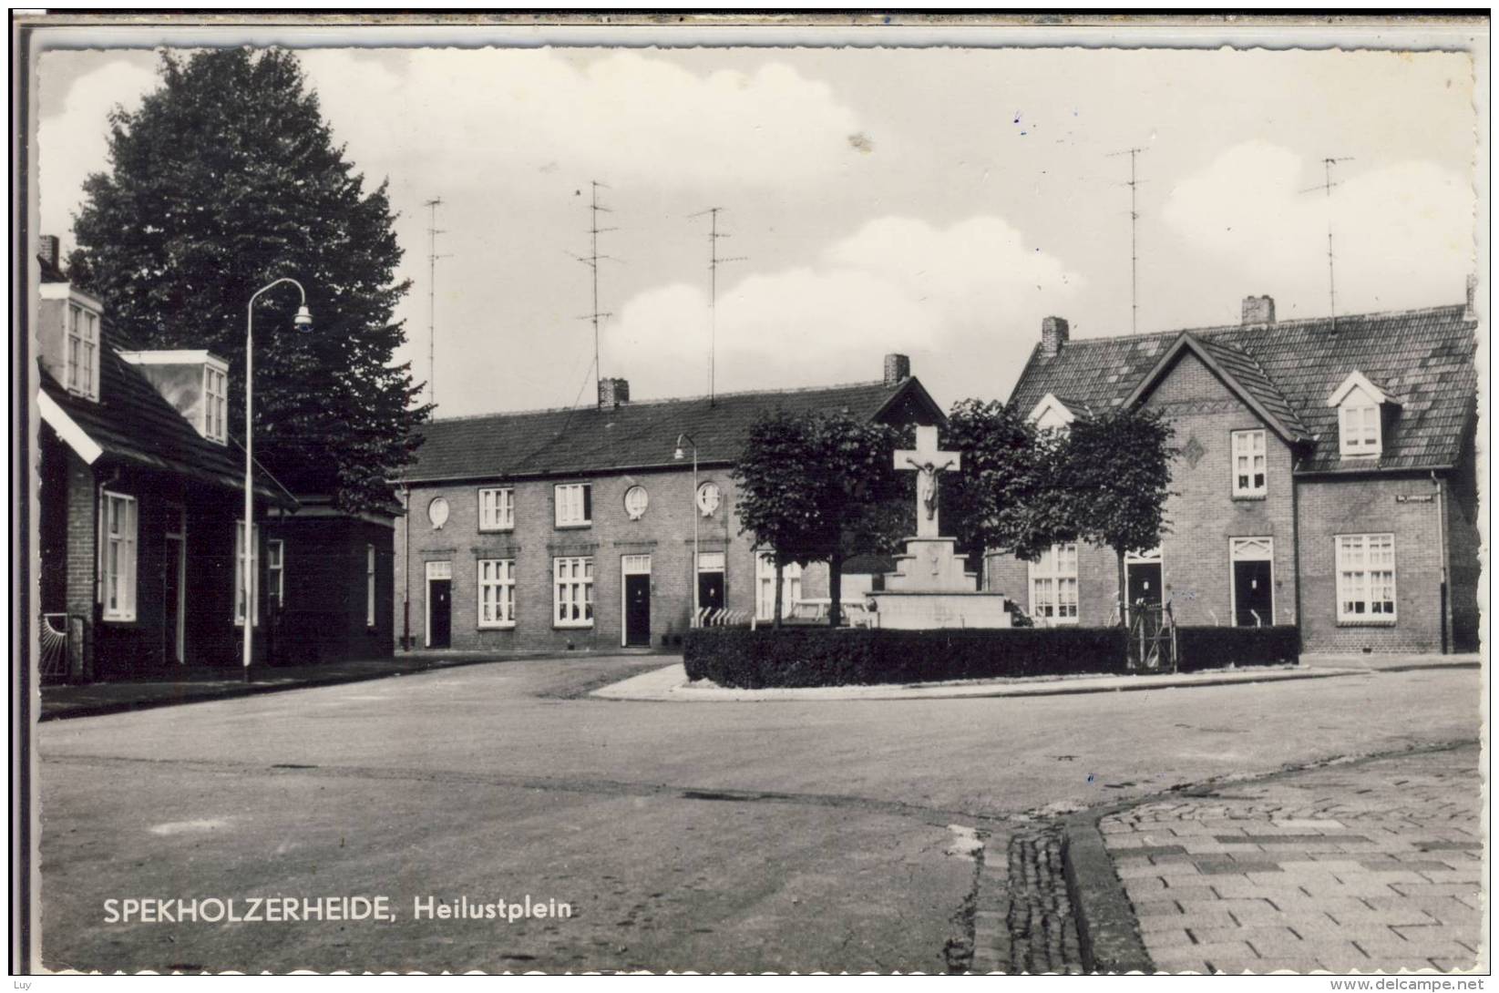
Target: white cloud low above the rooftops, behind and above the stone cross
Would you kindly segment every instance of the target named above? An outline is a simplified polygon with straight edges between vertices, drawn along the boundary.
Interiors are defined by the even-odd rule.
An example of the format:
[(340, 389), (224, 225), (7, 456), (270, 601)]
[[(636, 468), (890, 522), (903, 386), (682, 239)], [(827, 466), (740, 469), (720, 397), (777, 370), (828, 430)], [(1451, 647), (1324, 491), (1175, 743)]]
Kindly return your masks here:
[[(884, 352), (913, 356), (938, 401), (1003, 395), (1040, 319), (1081, 279), (998, 217), (934, 228), (872, 220), (817, 265), (754, 274), (721, 289), (721, 391), (877, 379)], [(609, 330), (612, 365), (639, 397), (700, 394), (708, 383), (706, 292), (675, 283), (631, 298)], [(630, 356), (675, 355), (678, 361)], [(962, 362), (952, 362), (964, 355)], [(923, 373), (923, 359), (931, 359)], [(938, 359), (950, 371), (934, 376)], [(952, 368), (956, 367), (956, 368)]]

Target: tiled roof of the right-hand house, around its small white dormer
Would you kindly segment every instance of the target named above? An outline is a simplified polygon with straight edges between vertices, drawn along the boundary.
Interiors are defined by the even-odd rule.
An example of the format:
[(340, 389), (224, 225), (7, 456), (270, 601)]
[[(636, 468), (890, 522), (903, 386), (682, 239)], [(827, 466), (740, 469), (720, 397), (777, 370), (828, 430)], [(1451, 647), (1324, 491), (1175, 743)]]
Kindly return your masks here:
[[(1333, 321), (1280, 321), (1190, 330), (1202, 350), (1229, 371), (1238, 388), (1294, 433), (1309, 437), (1301, 472), (1345, 466), (1337, 445), (1337, 409), (1328, 395), (1354, 370), (1402, 401), (1400, 416), (1384, 437), (1376, 464), (1360, 469), (1439, 469), (1457, 461), (1463, 434), (1477, 412), (1477, 319), (1462, 304), (1388, 313), (1349, 315)], [(1073, 338), (1048, 356), (1037, 346), (1010, 394), (1030, 410), (1048, 392), (1097, 409), (1117, 407), (1157, 371), (1181, 331)], [(1243, 358), (1241, 358), (1243, 356)], [(1250, 359), (1253, 367), (1244, 364)], [(1256, 371), (1258, 370), (1258, 371)], [(1160, 370), (1163, 371), (1163, 370)], [(1265, 382), (1259, 382), (1261, 376)], [(1265, 386), (1268, 383), (1270, 392)], [(1268, 422), (1268, 421), (1267, 421)]]

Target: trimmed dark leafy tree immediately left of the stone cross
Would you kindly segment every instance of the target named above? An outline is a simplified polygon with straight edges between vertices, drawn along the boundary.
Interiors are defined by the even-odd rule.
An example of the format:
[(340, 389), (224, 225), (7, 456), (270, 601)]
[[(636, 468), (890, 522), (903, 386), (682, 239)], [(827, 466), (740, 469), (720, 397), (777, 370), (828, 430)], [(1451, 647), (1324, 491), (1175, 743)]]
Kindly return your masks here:
[(893, 551), (910, 532), (914, 505), (901, 506), (908, 494), (895, 473), (898, 440), (895, 428), (841, 412), (775, 410), (751, 425), (735, 466), (738, 509), (742, 532), (773, 556), (776, 625), (785, 565), (827, 563), (836, 628), (844, 559)]

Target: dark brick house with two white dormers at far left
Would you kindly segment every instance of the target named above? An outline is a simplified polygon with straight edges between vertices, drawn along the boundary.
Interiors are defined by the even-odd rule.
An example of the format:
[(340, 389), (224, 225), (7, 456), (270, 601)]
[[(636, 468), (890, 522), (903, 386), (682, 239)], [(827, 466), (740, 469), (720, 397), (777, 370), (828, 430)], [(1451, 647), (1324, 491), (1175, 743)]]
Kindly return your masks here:
[[(43, 241), (33, 310), (42, 677), (108, 678), (234, 665), (241, 595), (244, 454), (228, 437), (228, 365), (204, 350), (141, 352)], [(48, 247), (51, 249), (49, 253)], [(256, 518), (292, 497), (256, 478)], [(279, 581), (264, 529), (252, 541), (250, 614)], [(256, 661), (271, 638), (256, 638)]]

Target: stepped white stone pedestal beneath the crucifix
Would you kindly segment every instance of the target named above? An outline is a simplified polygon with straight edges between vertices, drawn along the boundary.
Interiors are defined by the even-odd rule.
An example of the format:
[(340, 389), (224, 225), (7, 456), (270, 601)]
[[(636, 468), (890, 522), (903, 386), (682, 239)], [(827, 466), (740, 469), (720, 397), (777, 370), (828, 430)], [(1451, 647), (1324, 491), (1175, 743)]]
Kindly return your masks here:
[(1009, 628), (1003, 593), (979, 592), (979, 577), (968, 572), (968, 557), (955, 553), (955, 538), (907, 538), (896, 571), (884, 577), (884, 590), (869, 593), (880, 628), (925, 631), (937, 628)]

